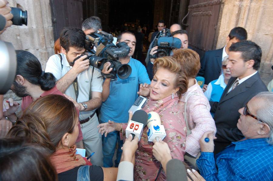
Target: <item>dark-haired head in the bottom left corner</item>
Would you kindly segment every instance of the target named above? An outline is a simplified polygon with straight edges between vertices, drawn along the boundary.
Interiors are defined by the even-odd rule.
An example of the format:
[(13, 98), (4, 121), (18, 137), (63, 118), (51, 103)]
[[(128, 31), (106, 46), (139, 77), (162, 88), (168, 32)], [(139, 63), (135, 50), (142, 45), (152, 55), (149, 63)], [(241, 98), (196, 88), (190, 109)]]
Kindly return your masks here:
[(49, 150), (18, 138), (0, 139), (0, 180), (57, 181)]

